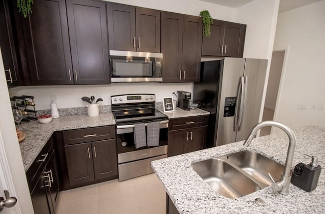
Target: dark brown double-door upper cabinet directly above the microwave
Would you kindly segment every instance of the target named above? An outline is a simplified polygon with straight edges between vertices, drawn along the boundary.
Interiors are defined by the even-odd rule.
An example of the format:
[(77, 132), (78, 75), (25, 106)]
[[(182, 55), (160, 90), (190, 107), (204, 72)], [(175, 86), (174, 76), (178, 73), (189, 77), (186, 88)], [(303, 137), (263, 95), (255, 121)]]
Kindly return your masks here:
[(160, 53), (160, 11), (107, 4), (111, 50)]

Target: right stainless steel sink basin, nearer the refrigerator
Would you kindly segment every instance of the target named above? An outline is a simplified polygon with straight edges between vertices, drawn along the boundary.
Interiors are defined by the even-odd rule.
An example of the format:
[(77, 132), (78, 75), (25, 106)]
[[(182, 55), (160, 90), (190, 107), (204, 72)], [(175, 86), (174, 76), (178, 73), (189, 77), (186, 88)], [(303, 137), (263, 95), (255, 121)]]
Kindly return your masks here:
[(272, 184), (268, 173), (272, 175), (275, 182), (281, 179), (284, 166), (257, 152), (244, 150), (226, 157), (230, 162), (267, 186)]

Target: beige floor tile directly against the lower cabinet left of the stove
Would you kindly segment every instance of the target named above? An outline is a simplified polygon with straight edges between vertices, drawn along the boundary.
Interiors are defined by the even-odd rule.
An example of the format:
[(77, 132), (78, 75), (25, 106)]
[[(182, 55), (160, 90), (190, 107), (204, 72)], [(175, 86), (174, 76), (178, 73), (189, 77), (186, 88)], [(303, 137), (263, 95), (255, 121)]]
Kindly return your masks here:
[(97, 185), (89, 185), (72, 190), (62, 191), (59, 197), (59, 203), (67, 203), (74, 200), (86, 198), (97, 194)]

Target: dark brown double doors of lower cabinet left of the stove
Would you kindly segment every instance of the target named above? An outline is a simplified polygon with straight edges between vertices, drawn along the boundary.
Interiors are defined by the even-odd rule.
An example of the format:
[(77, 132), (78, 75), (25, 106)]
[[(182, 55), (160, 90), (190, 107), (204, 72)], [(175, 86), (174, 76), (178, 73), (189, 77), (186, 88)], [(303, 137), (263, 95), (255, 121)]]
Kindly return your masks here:
[(71, 186), (117, 177), (115, 139), (64, 146)]

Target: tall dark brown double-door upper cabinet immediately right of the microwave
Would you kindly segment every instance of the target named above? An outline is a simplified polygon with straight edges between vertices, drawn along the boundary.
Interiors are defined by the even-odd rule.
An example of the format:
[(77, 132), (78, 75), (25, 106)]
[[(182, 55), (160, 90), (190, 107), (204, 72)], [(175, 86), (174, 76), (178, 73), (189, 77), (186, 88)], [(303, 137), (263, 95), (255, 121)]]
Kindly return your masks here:
[(161, 12), (163, 82), (200, 80), (202, 19)]

